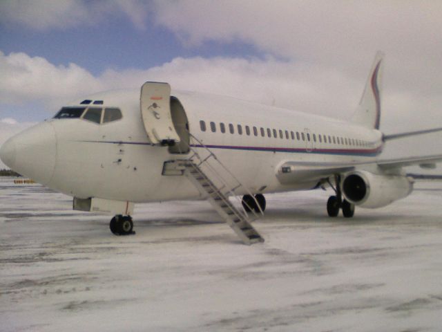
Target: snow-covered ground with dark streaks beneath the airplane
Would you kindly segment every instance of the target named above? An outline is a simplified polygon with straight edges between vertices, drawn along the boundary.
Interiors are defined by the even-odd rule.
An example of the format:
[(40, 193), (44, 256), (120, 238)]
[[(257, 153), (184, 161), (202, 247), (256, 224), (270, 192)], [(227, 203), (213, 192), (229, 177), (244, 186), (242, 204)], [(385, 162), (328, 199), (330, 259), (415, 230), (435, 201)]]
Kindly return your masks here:
[(267, 195), (244, 246), (206, 202), (109, 216), (0, 178), (0, 331), (441, 331), (442, 184), (354, 219)]

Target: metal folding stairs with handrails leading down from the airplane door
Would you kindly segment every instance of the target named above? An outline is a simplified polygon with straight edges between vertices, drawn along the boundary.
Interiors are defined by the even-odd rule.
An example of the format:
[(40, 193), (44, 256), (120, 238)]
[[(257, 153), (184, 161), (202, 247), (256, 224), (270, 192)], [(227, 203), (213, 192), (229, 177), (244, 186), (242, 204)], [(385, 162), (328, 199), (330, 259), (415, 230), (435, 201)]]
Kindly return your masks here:
[[(194, 136), (192, 136), (192, 138), (198, 142), (198, 147), (204, 148), (202, 149), (202, 151), (204, 151), (204, 157), (200, 156), (194, 147), (191, 147), (193, 154), (190, 158), (166, 161), (163, 166), (162, 175), (186, 176), (189, 178), (189, 181), (206, 197), (206, 200), (211, 203), (215, 211), (229, 224), (244, 244), (251, 245), (253, 243), (264, 242), (264, 239), (258, 231), (251, 225), (251, 221), (253, 221), (251, 216), (253, 215), (253, 219), (256, 219), (258, 218), (258, 213), (253, 210), (253, 207), (244, 202), (247, 208), (252, 212), (251, 214), (247, 214), (236, 192), (247, 192), (251, 197), (253, 197), (253, 195), (238, 181), (236, 176), (218, 160), (208, 147), (204, 146), (202, 142)], [(221, 172), (224, 176), (221, 175)], [(229, 176), (229, 181), (225, 179), (226, 175)], [(238, 210), (238, 208), (231, 203), (229, 196), (239, 201), (239, 205), (242, 208), (241, 210)], [(258, 206), (260, 214), (263, 214), (258, 202), (255, 203), (256, 206)]]

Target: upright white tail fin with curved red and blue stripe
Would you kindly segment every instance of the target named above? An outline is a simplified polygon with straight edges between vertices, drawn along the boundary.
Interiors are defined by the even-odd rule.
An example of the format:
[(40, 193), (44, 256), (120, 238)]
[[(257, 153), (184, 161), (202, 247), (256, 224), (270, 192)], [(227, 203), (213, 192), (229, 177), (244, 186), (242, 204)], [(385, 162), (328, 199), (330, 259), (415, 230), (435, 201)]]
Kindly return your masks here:
[(381, 120), (381, 76), (384, 54), (376, 53), (372, 70), (365, 84), (364, 93), (351, 122), (363, 127), (379, 129)]

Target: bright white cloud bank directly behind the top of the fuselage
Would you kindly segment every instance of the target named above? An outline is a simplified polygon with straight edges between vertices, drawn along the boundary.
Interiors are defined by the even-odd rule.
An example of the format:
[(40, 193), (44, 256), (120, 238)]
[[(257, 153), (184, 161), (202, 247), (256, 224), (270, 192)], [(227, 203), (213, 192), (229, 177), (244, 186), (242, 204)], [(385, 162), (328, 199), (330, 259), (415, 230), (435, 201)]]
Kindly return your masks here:
[[(6, 73), (0, 81), (3, 103), (39, 101), (50, 109), (97, 91), (140, 87), (146, 80), (157, 80), (170, 82), (173, 89), (231, 95), (264, 104), (275, 102), (280, 107), (343, 117), (352, 112), (364, 84), (333, 68), (307, 67), (270, 57), (176, 58), (144, 71), (108, 70), (95, 77), (76, 64), (55, 66), (41, 57), (0, 52), (0, 71)], [(357, 95), (343, 95), (343, 87), (354, 89)], [(327, 109), (321, 107), (323, 104)], [(343, 114), (343, 108), (347, 113)]]

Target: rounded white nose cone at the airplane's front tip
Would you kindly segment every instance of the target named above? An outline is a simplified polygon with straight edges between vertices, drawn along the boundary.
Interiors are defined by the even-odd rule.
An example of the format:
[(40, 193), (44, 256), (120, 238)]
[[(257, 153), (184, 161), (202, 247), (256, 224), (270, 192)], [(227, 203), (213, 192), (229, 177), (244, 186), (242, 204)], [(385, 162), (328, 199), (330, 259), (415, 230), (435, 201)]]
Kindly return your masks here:
[(43, 122), (6, 141), (0, 158), (15, 172), (46, 185), (54, 173), (56, 152), (55, 130)]

